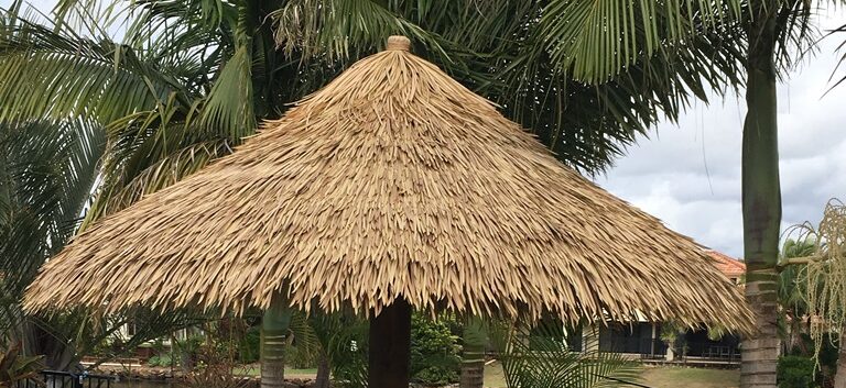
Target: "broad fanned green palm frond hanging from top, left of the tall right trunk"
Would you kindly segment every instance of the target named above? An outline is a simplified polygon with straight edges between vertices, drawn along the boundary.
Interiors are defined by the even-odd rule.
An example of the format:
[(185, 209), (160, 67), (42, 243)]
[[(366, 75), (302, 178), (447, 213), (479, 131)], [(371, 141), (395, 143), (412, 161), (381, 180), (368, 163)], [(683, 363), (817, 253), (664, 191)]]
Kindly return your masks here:
[(539, 33), (561, 71), (605, 82), (668, 46), (742, 15), (740, 0), (553, 0)]

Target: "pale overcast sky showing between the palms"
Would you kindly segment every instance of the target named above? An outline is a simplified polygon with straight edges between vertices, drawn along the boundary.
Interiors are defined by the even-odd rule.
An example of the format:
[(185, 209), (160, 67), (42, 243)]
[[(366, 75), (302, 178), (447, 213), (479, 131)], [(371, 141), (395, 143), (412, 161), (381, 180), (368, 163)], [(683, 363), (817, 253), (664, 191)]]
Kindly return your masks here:
[[(11, 0), (0, 0), (8, 7)], [(31, 1), (47, 13), (55, 0)], [(824, 29), (846, 23), (822, 18)], [(823, 97), (846, 34), (826, 40), (820, 53), (779, 88), (782, 226), (817, 222), (831, 198), (846, 200), (846, 85)], [(842, 71), (840, 74), (846, 74)], [(660, 124), (628, 149), (596, 182), (662, 219), (699, 243), (740, 257), (740, 141), (742, 98), (693, 107), (679, 125)]]

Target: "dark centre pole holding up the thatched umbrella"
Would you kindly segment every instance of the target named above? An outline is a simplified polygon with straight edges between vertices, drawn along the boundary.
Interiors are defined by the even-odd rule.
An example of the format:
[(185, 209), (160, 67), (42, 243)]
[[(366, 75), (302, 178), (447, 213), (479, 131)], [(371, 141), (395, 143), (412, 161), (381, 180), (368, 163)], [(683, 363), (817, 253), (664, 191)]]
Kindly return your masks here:
[(397, 299), (370, 319), (369, 388), (408, 388), (411, 362), (411, 306)]

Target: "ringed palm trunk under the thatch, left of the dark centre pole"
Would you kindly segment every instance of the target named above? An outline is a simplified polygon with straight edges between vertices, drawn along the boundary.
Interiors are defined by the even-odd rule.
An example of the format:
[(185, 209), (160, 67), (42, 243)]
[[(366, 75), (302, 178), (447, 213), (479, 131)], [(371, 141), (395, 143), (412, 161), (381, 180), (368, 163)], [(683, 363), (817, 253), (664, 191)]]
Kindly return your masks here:
[(285, 344), (291, 310), (282, 298), (273, 298), (261, 320), (261, 388), (284, 387)]

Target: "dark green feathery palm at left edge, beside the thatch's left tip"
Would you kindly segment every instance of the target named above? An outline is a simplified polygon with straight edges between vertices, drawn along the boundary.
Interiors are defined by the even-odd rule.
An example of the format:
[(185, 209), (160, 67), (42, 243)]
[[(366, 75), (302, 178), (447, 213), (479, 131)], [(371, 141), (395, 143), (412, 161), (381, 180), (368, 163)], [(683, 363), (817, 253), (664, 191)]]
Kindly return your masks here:
[(37, 318), (24, 319), (19, 302), (39, 266), (74, 233), (102, 146), (102, 131), (83, 121), (0, 124), (0, 331), (8, 343), (46, 354), (52, 368), (69, 365), (74, 350)]

